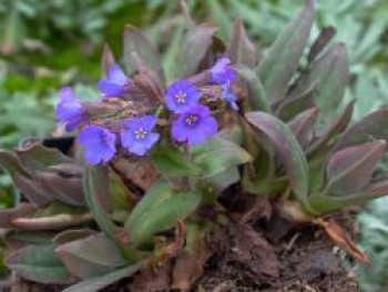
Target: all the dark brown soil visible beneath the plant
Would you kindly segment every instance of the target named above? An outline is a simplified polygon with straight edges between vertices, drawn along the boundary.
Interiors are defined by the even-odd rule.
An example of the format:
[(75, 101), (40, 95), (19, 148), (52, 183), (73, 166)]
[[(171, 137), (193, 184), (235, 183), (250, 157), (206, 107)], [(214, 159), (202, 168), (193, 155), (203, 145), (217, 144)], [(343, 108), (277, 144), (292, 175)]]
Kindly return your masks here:
[[(351, 235), (355, 223), (348, 213), (336, 214)], [(317, 226), (292, 232), (280, 243), (272, 244), (262, 225), (232, 224), (210, 240), (214, 254), (193, 291), (263, 292), (357, 292), (357, 279), (346, 263), (346, 254)], [(174, 263), (174, 262), (173, 262)], [(143, 271), (135, 279), (123, 279), (102, 292), (166, 291), (172, 266)], [(57, 292), (63, 286), (42, 286), (21, 282), (12, 292)]]

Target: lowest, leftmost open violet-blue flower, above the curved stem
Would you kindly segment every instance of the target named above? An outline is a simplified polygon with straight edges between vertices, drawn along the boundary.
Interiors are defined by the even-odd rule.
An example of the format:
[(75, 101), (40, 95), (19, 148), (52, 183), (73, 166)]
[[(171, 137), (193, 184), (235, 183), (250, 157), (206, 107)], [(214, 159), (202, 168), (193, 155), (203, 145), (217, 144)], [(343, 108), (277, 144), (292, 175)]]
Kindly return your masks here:
[(83, 155), (90, 164), (108, 162), (116, 152), (116, 135), (105, 128), (86, 125), (78, 139), (85, 147)]

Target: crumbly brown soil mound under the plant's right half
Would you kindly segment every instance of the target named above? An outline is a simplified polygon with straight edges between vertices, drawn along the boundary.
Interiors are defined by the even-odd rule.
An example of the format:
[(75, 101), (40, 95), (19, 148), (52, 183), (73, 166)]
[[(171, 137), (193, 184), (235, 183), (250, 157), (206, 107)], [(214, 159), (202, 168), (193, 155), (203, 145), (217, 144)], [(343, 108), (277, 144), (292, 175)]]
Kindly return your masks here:
[[(347, 214), (336, 215), (353, 233), (354, 221)], [(351, 230), (349, 230), (351, 228)], [(234, 235), (245, 233), (247, 228), (232, 228), (227, 231)], [(248, 229), (249, 230), (249, 229)], [(248, 231), (251, 234), (252, 229)], [(279, 244), (264, 243), (263, 230), (257, 230), (252, 236), (259, 236), (259, 244), (245, 242), (243, 245), (232, 244), (217, 253), (198, 281), (198, 291), (242, 291), (244, 289), (264, 292), (290, 291), (327, 291), (327, 292), (358, 292), (359, 288), (355, 274), (346, 265), (345, 252), (336, 248), (325, 232), (316, 226), (307, 226), (290, 234)], [(229, 235), (229, 234), (228, 234)], [(231, 241), (233, 242), (233, 241)], [(239, 254), (239, 248), (249, 246)], [(236, 258), (236, 251), (239, 254)], [(252, 256), (259, 254), (264, 258)], [(252, 258), (249, 258), (252, 256)], [(241, 262), (243, 260), (243, 263)], [(255, 268), (253, 268), (255, 266)], [(253, 269), (252, 269), (253, 268)], [(252, 273), (252, 271), (256, 271)], [(264, 272), (266, 271), (266, 272)], [(269, 271), (269, 273), (268, 273)]]

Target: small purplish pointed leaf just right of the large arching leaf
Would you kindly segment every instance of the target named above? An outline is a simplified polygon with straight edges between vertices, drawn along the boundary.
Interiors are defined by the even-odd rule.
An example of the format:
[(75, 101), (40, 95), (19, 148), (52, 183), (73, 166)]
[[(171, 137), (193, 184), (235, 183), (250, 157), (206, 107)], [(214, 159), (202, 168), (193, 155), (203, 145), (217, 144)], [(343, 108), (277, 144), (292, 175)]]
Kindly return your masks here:
[(306, 149), (314, 138), (314, 124), (318, 113), (319, 109), (313, 108), (299, 113), (288, 123), (303, 149)]

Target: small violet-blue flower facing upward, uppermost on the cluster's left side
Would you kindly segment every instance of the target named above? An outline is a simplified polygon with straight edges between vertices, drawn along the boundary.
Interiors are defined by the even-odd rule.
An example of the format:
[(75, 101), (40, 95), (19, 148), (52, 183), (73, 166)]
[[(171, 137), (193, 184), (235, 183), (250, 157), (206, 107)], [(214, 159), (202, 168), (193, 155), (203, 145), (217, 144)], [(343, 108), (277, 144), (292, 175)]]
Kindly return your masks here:
[(105, 78), (100, 80), (100, 91), (106, 98), (118, 97), (126, 91), (129, 79), (119, 64), (113, 64)]

